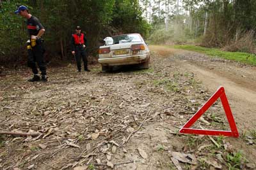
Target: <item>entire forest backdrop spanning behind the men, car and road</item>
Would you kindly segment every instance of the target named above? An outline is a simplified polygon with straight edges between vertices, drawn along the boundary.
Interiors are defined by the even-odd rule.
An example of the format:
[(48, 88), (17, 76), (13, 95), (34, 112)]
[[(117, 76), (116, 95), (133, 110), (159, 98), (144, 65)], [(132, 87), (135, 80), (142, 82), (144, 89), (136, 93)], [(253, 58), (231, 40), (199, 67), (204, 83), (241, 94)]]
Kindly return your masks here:
[(255, 53), (256, 2), (252, 0), (97, 0), (0, 1), (0, 62), (26, 62), (28, 6), (45, 27), (47, 60), (71, 60), (70, 39), (80, 25), (88, 53), (97, 57), (106, 36), (140, 33), (150, 44), (193, 44), (230, 52)]

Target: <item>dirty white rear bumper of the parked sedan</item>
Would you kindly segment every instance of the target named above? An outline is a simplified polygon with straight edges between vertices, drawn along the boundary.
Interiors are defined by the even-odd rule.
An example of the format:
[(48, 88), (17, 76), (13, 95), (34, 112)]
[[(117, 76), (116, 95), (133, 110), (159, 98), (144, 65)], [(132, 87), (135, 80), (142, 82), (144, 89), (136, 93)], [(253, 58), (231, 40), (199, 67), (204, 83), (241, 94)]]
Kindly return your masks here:
[(120, 65), (129, 65), (129, 64), (140, 64), (148, 60), (148, 55), (132, 55), (125, 57), (111, 57), (105, 59), (99, 59), (99, 63), (102, 65), (108, 66), (120, 66)]

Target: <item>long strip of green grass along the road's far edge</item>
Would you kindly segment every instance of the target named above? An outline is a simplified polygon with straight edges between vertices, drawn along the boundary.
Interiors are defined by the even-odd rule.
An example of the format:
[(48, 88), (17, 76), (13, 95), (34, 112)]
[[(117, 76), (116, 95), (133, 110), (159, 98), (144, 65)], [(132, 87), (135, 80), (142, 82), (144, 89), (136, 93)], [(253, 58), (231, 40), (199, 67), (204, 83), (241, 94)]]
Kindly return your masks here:
[(234, 60), (237, 62), (241, 62), (243, 64), (250, 64), (252, 66), (256, 66), (256, 55), (252, 53), (244, 53), (244, 52), (224, 52), (218, 48), (205, 48), (202, 46), (194, 46), (194, 45), (175, 45), (173, 48), (189, 50), (193, 52), (205, 53), (210, 56), (217, 56), (222, 59)]

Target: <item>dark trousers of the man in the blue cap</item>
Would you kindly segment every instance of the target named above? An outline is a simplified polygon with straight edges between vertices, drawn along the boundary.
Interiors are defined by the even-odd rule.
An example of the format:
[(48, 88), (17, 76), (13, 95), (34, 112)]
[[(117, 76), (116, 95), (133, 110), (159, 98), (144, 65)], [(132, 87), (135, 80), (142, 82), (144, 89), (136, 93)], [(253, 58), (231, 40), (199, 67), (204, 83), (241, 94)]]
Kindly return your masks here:
[(44, 61), (44, 46), (41, 40), (36, 40), (36, 46), (28, 49), (28, 67), (34, 74), (38, 74), (36, 63), (41, 71), (42, 76), (46, 76), (46, 64)]

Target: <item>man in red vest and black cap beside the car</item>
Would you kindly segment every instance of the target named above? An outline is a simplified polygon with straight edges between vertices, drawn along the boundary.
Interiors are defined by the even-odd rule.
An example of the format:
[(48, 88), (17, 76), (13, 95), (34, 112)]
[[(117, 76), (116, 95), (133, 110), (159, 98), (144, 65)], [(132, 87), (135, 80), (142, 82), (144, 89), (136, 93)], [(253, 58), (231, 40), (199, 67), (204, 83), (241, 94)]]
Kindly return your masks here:
[(84, 34), (81, 33), (81, 27), (76, 27), (76, 34), (72, 34), (71, 47), (72, 54), (76, 56), (77, 71), (81, 72), (81, 57), (84, 62), (84, 71), (90, 71), (88, 69), (88, 61), (86, 58), (85, 48), (87, 46), (87, 39)]

